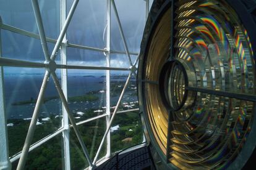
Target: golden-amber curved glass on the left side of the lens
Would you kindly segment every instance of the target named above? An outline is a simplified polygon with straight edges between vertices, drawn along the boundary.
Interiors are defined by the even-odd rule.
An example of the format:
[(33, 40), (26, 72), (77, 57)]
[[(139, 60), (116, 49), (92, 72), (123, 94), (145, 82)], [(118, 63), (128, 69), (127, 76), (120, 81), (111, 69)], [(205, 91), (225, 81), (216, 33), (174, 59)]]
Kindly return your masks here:
[[(163, 153), (166, 153), (167, 145), (167, 128), (168, 128), (168, 111), (163, 105), (158, 87), (160, 77), (160, 68), (169, 57), (170, 34), (171, 34), (171, 11), (164, 13), (160, 24), (156, 26), (155, 33), (150, 41), (147, 52), (147, 66), (145, 68), (145, 79), (156, 83), (145, 84), (145, 102), (148, 119), (151, 124), (151, 131), (155, 136), (156, 142)], [(163, 34), (163, 36), (158, 36)], [(156, 57), (157, 56), (157, 57)]]

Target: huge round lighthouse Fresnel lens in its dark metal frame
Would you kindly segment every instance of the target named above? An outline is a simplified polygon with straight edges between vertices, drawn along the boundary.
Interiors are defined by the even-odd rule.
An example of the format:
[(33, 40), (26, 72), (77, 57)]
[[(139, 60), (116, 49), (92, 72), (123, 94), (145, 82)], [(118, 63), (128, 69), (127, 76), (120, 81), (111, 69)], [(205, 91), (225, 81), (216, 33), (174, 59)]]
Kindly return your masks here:
[(246, 29), (256, 27), (245, 22), (227, 1), (153, 2), (139, 102), (154, 158), (169, 168), (242, 168), (254, 150), (255, 43)]

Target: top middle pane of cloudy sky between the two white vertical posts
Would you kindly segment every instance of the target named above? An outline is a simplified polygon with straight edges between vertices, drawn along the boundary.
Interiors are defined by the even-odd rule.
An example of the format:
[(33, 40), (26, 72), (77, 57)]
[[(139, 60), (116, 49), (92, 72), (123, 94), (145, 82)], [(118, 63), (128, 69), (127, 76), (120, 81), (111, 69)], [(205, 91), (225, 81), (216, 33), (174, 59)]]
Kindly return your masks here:
[[(72, 0), (67, 1), (67, 12), (72, 3)], [(67, 39), (72, 44), (104, 49), (105, 27), (106, 1), (80, 1), (67, 30)]]

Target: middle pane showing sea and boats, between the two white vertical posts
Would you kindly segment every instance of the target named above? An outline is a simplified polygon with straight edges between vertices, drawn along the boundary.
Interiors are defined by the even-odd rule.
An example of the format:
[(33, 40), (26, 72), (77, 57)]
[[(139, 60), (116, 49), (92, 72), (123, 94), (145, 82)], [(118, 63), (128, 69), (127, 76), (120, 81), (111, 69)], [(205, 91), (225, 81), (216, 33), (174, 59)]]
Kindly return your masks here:
[(75, 121), (106, 113), (105, 71), (69, 70), (67, 98)]

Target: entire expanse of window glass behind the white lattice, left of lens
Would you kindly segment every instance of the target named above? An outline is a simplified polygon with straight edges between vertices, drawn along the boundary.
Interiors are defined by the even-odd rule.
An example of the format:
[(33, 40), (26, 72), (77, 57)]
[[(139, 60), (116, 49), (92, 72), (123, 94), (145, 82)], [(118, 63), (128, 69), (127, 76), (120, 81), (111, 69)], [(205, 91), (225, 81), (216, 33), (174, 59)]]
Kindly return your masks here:
[[(69, 14), (73, 2), (71, 0), (38, 1), (47, 38), (58, 39), (61, 17), (63, 17), (61, 15), (63, 11)], [(143, 0), (133, 0), (132, 2), (116, 0), (115, 2), (129, 52), (133, 52), (130, 57), (134, 63), (137, 59), (137, 53), (139, 53), (143, 25), (145, 24), (146, 3)], [(61, 9), (64, 7), (61, 6), (62, 3), (66, 3), (66, 9)], [(11, 66), (1, 65), (4, 68), (4, 76), (1, 77), (0, 75), (0, 78), (4, 80), (4, 103), (7, 119), (7, 126), (5, 127), (8, 135), (9, 156), (12, 167), (16, 168), (45, 71), (51, 67), (45, 63), (43, 68), (31, 68), (30, 62), (44, 63), (45, 55), (41, 40), (31, 37), (31, 34), (38, 34), (38, 26), (30, 0), (1, 1), (0, 17), (4, 24), (0, 30), (0, 56), (12, 63)], [(107, 67), (108, 55), (110, 67), (130, 67), (113, 7), (111, 7), (110, 18), (111, 39), (109, 44), (111, 47), (110, 51), (106, 51), (107, 1), (80, 1), (67, 28), (68, 42), (61, 45), (55, 60), (58, 64), (55, 73), (64, 95), (67, 95), (71, 116), (74, 116), (75, 123), (77, 123), (92, 160), (94, 160), (106, 131), (107, 104), (110, 103), (110, 111), (113, 112), (129, 75), (129, 71), (110, 71), (110, 101), (106, 101), (108, 74), (106, 70), (101, 70), (100, 67)], [(55, 44), (51, 41), (47, 42), (47, 46), (49, 55), (51, 55)], [(15, 62), (12, 62), (12, 59), (15, 59)], [(61, 65), (61, 61), (66, 63)], [(18, 67), (20, 62), (25, 67)], [(66, 65), (77, 68), (67, 69), (67, 72), (60, 69), (66, 68)], [(95, 67), (95, 70), (80, 69), (80, 66)], [(67, 113), (64, 111), (62, 100), (51, 76), (46, 86), (30, 144), (30, 146), (35, 144), (38, 146), (28, 153), (25, 169), (62, 169), (64, 166), (69, 166), (64, 161), (64, 158), (69, 159), (69, 153), (70, 167), (72, 169), (85, 169), (89, 166), (88, 161), (75, 136), (74, 129), (67, 119)], [(111, 155), (111, 153), (107, 153), (107, 143), (111, 146), (111, 152), (118, 152), (142, 142), (141, 122), (137, 108), (139, 105), (136, 81), (132, 77), (118, 111), (134, 110), (127, 113), (117, 113), (114, 123), (111, 125), (110, 144), (109, 140), (105, 140), (97, 160), (105, 159), (106, 155)], [(96, 116), (98, 117), (95, 118)], [(120, 126), (119, 131), (113, 131), (114, 126)], [(62, 135), (58, 134), (47, 142), (38, 143), (56, 132)], [(67, 136), (70, 136), (67, 139), (69, 144), (64, 141)], [(132, 140), (130, 140), (131, 138)], [(0, 142), (2, 140), (0, 139)]]

